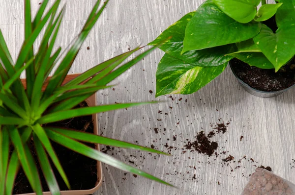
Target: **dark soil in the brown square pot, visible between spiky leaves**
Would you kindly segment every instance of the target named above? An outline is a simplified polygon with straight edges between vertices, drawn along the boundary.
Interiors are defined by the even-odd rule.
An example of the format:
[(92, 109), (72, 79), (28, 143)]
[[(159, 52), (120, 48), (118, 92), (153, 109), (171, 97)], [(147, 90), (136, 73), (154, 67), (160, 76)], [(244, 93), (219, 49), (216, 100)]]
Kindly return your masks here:
[[(87, 103), (83, 102), (80, 103), (77, 108), (85, 106), (87, 106)], [(92, 116), (77, 117), (69, 120), (46, 124), (44, 126), (56, 126), (93, 133)], [(51, 144), (55, 149), (55, 152), (59, 158), (59, 162), (67, 175), (67, 178), (71, 185), (71, 190), (89, 190), (94, 188), (97, 182), (97, 162), (64, 146), (60, 146), (55, 142), (51, 142)], [(94, 144), (84, 144), (93, 148), (95, 147)], [(33, 141), (29, 143), (29, 147), (31, 153), (33, 154), (33, 157), (35, 158), (35, 161), (37, 162), (36, 165), (39, 171), (43, 192), (49, 191), (46, 180), (43, 176), (39, 162), (37, 160), (37, 154), (34, 148)], [(68, 190), (61, 176), (59, 175), (58, 170), (55, 168), (52, 162), (51, 167), (53, 168), (53, 171), (59, 183), (59, 189), (61, 191)], [(30, 188), (29, 181), (25, 176), (24, 171), (20, 169), (15, 179), (13, 194), (25, 194), (32, 192), (33, 191)]]

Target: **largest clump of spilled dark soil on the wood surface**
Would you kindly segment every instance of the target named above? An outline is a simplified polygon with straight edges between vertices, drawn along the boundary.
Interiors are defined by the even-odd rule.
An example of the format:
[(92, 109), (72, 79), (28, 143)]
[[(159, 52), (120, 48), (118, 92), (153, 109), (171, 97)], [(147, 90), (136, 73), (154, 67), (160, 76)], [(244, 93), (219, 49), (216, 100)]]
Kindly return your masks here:
[(196, 140), (194, 142), (187, 142), (184, 147), (186, 149), (193, 149), (199, 153), (212, 156), (212, 154), (218, 147), (217, 142), (211, 142), (209, 138), (204, 134), (204, 131), (198, 133), (195, 138)]

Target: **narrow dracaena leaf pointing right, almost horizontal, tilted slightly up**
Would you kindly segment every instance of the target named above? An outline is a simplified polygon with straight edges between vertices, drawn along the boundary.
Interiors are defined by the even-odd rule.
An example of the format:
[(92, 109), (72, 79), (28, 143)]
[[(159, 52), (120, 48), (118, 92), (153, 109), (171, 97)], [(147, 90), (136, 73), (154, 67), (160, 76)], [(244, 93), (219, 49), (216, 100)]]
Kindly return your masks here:
[(111, 105), (101, 105), (101, 106), (59, 111), (59, 112), (50, 113), (48, 115), (41, 117), (41, 119), (39, 119), (38, 122), (40, 124), (57, 122), (57, 121), (65, 120), (65, 119), (71, 119), (73, 117), (80, 117), (80, 116), (86, 116), (86, 115), (91, 115), (91, 114), (100, 113), (100, 112), (106, 112), (110, 110), (129, 108), (131, 106), (144, 105), (148, 103), (156, 103), (156, 102), (111, 104)]

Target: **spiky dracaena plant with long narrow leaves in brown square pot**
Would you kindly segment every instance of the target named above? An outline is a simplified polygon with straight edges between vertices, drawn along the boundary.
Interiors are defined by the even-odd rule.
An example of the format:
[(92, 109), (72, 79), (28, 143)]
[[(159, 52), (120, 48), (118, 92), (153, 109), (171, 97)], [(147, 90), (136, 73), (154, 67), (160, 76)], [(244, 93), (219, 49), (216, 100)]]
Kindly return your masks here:
[[(109, 88), (107, 84), (110, 81), (142, 60), (155, 47), (124, 64), (122, 63), (127, 57), (141, 48), (107, 60), (85, 73), (67, 75), (84, 40), (108, 1), (102, 6), (99, 6), (99, 0), (95, 3), (83, 29), (68, 51), (63, 54), (60, 53), (60, 47), (56, 51), (53, 51), (53, 47), (64, 8), (58, 12), (60, 0), (56, 0), (51, 7), (47, 7), (48, 1), (43, 1), (35, 18), (31, 20), (30, 0), (25, 0), (25, 41), (15, 62), (0, 31), (0, 195), (32, 192), (41, 195), (47, 190), (53, 195), (59, 195), (60, 190), (65, 190), (59, 189), (59, 184), (71, 189), (64, 191), (64, 195), (93, 193), (98, 189), (102, 179), (101, 165), (97, 163), (96, 166), (96, 161), (169, 185), (97, 150), (98, 144), (103, 144), (166, 154), (151, 148), (98, 136), (95, 115), (99, 112), (145, 104), (96, 106), (95, 92)], [(44, 35), (41, 37), (39, 48), (34, 52), (33, 45), (42, 30)], [(56, 71), (53, 71), (54, 67)], [(23, 71), (26, 71), (25, 80), (20, 79)], [(52, 77), (49, 77), (50, 73), (53, 73)], [(81, 118), (89, 115), (90, 119)], [(80, 127), (81, 122), (87, 124), (82, 124)], [(68, 124), (77, 130), (67, 129), (66, 127), (71, 127)], [(80, 126), (75, 127), (75, 124)], [(72, 174), (79, 172), (79, 169), (85, 171), (82, 165), (86, 162), (78, 162), (80, 164), (70, 165), (70, 169), (66, 169), (68, 164), (64, 161), (75, 161), (67, 158), (71, 156), (67, 153), (73, 153), (72, 150), (95, 160), (94, 163), (93, 160), (87, 161), (92, 164), (88, 166), (92, 166), (95, 171), (92, 170), (95, 180), (89, 189), (81, 188), (83, 183), (70, 188), (71, 181), (75, 179), (88, 181), (87, 177), (91, 176), (84, 175), (83, 178), (79, 178), (80, 175)], [(80, 156), (75, 157), (81, 159)], [(22, 171), (23, 174), (18, 174), (18, 171)], [(71, 178), (67, 177), (67, 174)], [(19, 185), (21, 187), (18, 187)], [(16, 189), (22, 190), (22, 188), (28, 191), (16, 192)], [(79, 191), (80, 189), (84, 191)]]

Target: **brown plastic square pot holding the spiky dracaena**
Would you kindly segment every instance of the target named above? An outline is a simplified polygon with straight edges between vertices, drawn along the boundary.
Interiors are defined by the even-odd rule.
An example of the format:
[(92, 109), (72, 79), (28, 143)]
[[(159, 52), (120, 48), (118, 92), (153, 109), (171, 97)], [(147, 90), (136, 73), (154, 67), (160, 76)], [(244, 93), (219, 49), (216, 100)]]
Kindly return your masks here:
[[(64, 79), (64, 82), (62, 84), (65, 84), (66, 82), (72, 80), (73, 78), (79, 76), (80, 74), (69, 74), (65, 77)], [(48, 77), (47, 80), (45, 81), (45, 84), (42, 88), (42, 90), (45, 90), (47, 84), (48, 84), (48, 80), (50, 79), (51, 77)], [(26, 88), (27, 85), (26, 85), (26, 79), (21, 79), (24, 87)], [(96, 103), (96, 95), (93, 94), (91, 97), (87, 98), (85, 100), (88, 104), (88, 106), (96, 106), (97, 103)], [(92, 121), (93, 121), (93, 133), (95, 135), (99, 135), (98, 133), (98, 123), (97, 123), (97, 115), (96, 114), (93, 114), (92, 115)], [(99, 150), (99, 144), (95, 144), (95, 149)], [(89, 189), (89, 190), (69, 190), (69, 191), (61, 191), (61, 195), (89, 195), (89, 194), (92, 194), (96, 191), (98, 191), (98, 189), (100, 188), (102, 184), (102, 167), (101, 167), (101, 162), (100, 161), (97, 161), (97, 182), (95, 184), (95, 187), (92, 188), (92, 189)], [(30, 194), (22, 194), (22, 195), (35, 195), (35, 193), (30, 193)], [(43, 192), (43, 195), (51, 195), (50, 192)]]

